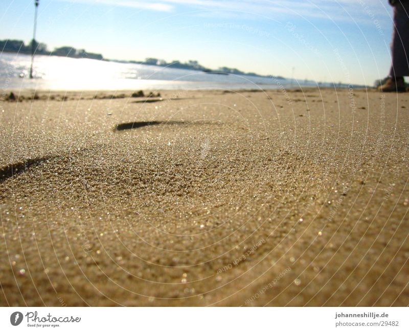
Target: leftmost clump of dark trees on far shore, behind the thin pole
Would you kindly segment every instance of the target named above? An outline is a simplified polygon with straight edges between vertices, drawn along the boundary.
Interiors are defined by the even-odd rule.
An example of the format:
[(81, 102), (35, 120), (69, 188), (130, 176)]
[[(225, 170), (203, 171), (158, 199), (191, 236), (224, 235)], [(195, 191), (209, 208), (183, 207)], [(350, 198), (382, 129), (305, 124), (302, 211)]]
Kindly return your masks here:
[[(34, 43), (34, 45), (33, 45)], [(47, 45), (43, 42), (37, 42), (36, 40), (31, 40), (28, 45), (25, 45), (22, 40), (0, 40), (0, 51), (3, 52), (12, 52), (12, 53), (22, 53), (22, 54), (31, 54), (31, 51), (34, 47), (34, 54), (40, 55), (57, 55), (57, 56), (66, 56), (70, 58), (87, 58), (87, 59), (96, 59), (102, 60), (103, 56), (98, 53), (86, 52), (83, 49), (75, 49), (71, 46), (63, 46), (54, 49), (54, 51), (49, 51)]]

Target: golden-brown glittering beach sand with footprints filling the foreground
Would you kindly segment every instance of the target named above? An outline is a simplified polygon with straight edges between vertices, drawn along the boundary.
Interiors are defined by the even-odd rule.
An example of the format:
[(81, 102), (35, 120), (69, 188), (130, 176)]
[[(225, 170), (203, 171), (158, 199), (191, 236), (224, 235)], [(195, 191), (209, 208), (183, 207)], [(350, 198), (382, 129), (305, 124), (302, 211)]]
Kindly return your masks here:
[(1, 305), (409, 305), (409, 94), (30, 94), (0, 103)]

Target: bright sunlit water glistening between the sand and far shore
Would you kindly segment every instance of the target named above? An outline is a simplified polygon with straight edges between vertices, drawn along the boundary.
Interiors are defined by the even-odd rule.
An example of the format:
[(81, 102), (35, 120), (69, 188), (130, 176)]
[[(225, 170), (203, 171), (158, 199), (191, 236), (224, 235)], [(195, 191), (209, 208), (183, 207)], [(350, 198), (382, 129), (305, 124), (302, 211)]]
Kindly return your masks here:
[[(297, 87), (286, 79), (217, 75), (153, 65), (73, 59), (38, 55), (34, 79), (29, 79), (31, 56), (0, 54), (0, 88), (3, 90), (165, 90), (165, 89), (272, 89)], [(303, 86), (316, 86), (303, 82)]]

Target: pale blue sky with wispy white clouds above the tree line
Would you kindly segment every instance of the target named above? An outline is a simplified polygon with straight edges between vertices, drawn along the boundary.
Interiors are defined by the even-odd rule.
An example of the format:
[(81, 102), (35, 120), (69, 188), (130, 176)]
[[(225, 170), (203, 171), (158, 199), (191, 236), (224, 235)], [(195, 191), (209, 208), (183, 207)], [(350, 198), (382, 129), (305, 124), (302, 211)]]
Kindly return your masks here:
[[(29, 42), (34, 0), (2, 0), (0, 39)], [(108, 59), (197, 60), (299, 80), (388, 75), (387, 0), (40, 0), (36, 40)]]

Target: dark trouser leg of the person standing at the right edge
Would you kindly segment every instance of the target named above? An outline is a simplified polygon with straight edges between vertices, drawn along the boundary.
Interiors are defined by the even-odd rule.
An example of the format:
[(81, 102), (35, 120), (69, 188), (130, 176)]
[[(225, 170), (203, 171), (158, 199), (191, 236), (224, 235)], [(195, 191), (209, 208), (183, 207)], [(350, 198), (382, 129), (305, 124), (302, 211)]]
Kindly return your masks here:
[(409, 76), (409, 4), (394, 6), (392, 77)]

